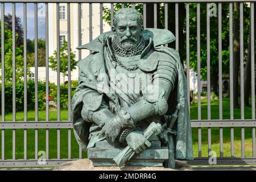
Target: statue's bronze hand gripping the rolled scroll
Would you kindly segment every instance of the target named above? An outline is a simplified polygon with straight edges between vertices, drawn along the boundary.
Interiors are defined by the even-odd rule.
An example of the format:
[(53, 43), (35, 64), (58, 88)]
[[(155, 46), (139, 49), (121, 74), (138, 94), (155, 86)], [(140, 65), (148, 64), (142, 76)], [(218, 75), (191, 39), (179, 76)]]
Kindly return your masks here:
[(137, 154), (142, 152), (147, 147), (151, 146), (151, 143), (140, 133), (131, 132), (126, 137), (126, 142), (129, 147)]

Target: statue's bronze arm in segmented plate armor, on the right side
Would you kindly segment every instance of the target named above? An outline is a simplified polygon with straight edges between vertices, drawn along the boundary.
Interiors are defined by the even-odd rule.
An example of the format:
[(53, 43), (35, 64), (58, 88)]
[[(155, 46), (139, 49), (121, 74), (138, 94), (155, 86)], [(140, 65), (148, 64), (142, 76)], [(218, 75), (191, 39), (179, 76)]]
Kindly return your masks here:
[[(169, 56), (170, 57), (170, 56)], [(177, 78), (177, 66), (172, 57), (159, 61), (157, 70), (152, 74), (152, 85), (142, 91), (144, 99), (130, 106), (125, 113), (129, 122), (121, 120), (123, 127), (132, 127), (135, 123), (151, 115), (164, 115), (168, 110), (167, 100), (174, 89)]]

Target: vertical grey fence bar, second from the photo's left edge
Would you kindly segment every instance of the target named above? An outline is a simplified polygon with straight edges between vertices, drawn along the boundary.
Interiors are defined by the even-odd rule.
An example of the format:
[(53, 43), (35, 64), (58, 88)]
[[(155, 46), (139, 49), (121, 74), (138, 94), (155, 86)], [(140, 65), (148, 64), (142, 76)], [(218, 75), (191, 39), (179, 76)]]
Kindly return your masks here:
[[(12, 28), (13, 28), (13, 121), (16, 121), (16, 60), (15, 60), (15, 3), (12, 3)], [(13, 160), (15, 160), (16, 155), (16, 130), (13, 130)]]

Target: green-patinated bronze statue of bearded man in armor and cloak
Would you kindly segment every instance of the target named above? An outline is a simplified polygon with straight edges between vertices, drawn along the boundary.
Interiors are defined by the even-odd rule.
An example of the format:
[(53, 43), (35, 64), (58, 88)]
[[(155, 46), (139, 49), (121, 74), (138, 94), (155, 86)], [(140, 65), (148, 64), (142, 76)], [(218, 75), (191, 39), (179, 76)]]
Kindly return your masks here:
[(170, 155), (193, 159), (183, 65), (179, 53), (165, 47), (174, 40), (168, 30), (144, 30), (141, 14), (122, 8), (114, 15), (112, 31), (78, 47), (92, 51), (78, 63), (79, 86), (72, 98), (73, 127), (82, 149), (104, 140), (136, 153), (152, 140), (167, 146), (170, 137), (146, 138), (143, 132), (152, 122), (170, 125), (166, 115), (176, 113), (167, 134), (173, 136)]

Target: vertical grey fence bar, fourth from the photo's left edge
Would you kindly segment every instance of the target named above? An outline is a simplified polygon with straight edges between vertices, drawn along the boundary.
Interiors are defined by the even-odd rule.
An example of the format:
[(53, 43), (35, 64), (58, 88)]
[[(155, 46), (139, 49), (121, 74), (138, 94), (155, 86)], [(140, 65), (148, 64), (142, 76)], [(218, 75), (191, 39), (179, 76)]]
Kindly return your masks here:
[[(38, 121), (38, 4), (34, 3), (35, 14), (35, 121)], [(35, 159), (38, 159), (38, 129), (35, 129)]]

